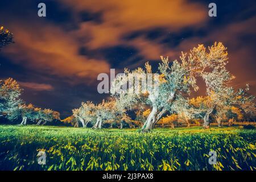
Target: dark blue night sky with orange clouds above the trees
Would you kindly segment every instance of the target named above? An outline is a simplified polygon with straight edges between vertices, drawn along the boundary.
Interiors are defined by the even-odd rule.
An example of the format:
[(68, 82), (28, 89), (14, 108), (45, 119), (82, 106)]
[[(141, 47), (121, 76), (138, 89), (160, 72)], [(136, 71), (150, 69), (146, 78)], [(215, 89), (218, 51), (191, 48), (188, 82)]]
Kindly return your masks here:
[[(47, 17), (38, 16), (46, 3)], [(208, 5), (217, 5), (217, 17)], [(233, 86), (251, 86), (256, 96), (255, 1), (59, 0), (0, 1), (0, 26), (15, 44), (0, 52), (0, 78), (13, 77), (22, 98), (38, 107), (71, 115), (82, 101), (100, 102), (97, 75), (122, 72), (160, 55), (178, 59), (197, 44), (228, 47)], [(199, 93), (204, 94), (204, 89)]]

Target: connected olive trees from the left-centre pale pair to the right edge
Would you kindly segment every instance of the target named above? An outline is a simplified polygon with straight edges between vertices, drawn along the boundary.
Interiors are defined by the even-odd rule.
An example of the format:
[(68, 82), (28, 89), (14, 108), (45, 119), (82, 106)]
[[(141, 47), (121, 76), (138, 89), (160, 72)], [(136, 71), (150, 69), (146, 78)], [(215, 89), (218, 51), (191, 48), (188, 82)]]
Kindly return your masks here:
[[(228, 118), (227, 115), (234, 107), (249, 117), (255, 115), (254, 96), (248, 93), (249, 85), (238, 90), (230, 86), (235, 77), (226, 69), (228, 52), (222, 43), (214, 43), (208, 47), (208, 51), (203, 45), (199, 45), (188, 55), (182, 53), (180, 61), (175, 60), (172, 64), (168, 57), (161, 57), (161, 60), (157, 72), (158, 92), (152, 86), (147, 86), (144, 93), (134, 92), (136, 89), (142, 90), (142, 82), (133, 82), (132, 86), (120, 92), (120, 88), (127, 84), (127, 78), (152, 73), (151, 65), (146, 63), (145, 69), (125, 69), (124, 75), (114, 79), (111, 88), (112, 100), (104, 100), (97, 105), (83, 102), (79, 109), (73, 110), (73, 116), (84, 127), (93, 122), (94, 129), (101, 129), (104, 122), (122, 122), (128, 110), (150, 107), (142, 126), (142, 131), (148, 131), (161, 119), (163, 122), (166, 114), (176, 114), (176, 120), (185, 121), (188, 126), (191, 119), (203, 119), (205, 128), (209, 127), (210, 117), (221, 126), (221, 121)], [(192, 90), (199, 90), (199, 77), (204, 80), (207, 96), (189, 99)]]

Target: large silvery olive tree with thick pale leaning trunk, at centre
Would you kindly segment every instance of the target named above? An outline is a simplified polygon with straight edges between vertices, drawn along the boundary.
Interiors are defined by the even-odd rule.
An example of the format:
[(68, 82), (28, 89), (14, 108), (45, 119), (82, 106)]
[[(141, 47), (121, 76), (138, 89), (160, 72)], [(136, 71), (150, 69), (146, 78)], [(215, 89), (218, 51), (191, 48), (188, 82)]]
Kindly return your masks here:
[[(146, 122), (142, 127), (142, 131), (148, 131), (154, 128), (155, 123), (162, 118), (168, 110), (172, 102), (174, 102), (177, 94), (190, 93), (191, 87), (195, 90), (198, 89), (196, 86), (195, 74), (192, 71), (195, 70), (196, 64), (190, 59), (185, 60), (185, 55), (181, 57), (181, 63), (177, 60), (173, 61), (170, 65), (167, 58), (161, 57), (162, 63), (158, 67), (158, 76), (152, 76), (151, 65), (145, 64), (145, 70), (142, 68), (135, 69), (134, 71), (125, 70), (125, 76), (119, 76), (115, 78), (114, 86), (117, 83), (119, 85), (126, 84), (130, 77), (141, 77), (141, 75), (147, 75), (147, 85), (143, 87), (142, 82), (132, 82), (131, 88), (126, 91), (121, 91), (121, 93), (114, 94), (119, 100), (121, 98), (129, 98), (129, 100), (135, 100), (137, 102), (128, 102), (130, 104), (135, 104), (138, 102), (143, 102), (151, 106), (151, 112), (148, 115)], [(150, 75), (150, 77), (148, 77)], [(137, 78), (138, 79), (138, 78)], [(154, 82), (154, 84), (152, 84)], [(130, 82), (129, 82), (130, 84)], [(142, 90), (144, 92), (134, 92), (134, 90)]]

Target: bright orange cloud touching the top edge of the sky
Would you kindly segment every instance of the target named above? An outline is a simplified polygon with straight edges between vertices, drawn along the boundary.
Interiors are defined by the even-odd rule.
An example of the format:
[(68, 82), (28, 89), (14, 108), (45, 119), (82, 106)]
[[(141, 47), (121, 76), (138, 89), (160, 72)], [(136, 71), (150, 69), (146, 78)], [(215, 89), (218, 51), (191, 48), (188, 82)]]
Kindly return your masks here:
[(180, 1), (61, 1), (75, 12), (101, 12), (103, 22), (80, 24), (79, 36), (90, 36), (86, 46), (95, 49), (122, 43), (122, 36), (133, 31), (165, 27), (177, 31), (188, 26), (200, 26), (208, 17), (208, 7), (200, 3)]

